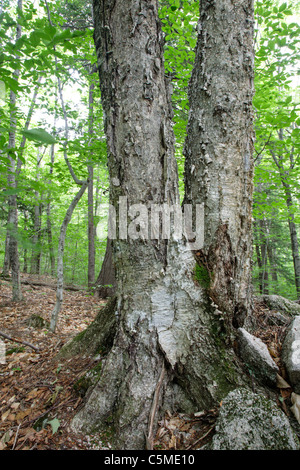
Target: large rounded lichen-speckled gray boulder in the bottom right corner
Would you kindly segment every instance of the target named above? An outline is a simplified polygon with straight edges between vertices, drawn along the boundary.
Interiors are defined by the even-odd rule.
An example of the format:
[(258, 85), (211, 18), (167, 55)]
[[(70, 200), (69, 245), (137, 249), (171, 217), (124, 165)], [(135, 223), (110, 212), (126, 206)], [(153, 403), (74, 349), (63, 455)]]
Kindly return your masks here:
[(223, 400), (210, 450), (299, 450), (288, 418), (273, 401), (246, 389)]

